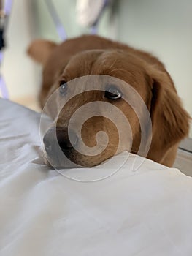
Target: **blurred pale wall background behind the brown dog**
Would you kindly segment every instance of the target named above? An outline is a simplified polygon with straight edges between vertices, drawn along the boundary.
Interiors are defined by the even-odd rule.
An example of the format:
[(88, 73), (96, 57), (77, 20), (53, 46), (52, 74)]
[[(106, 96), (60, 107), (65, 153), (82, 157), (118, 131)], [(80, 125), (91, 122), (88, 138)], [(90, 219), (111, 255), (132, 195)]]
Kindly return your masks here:
[[(95, 0), (96, 1), (96, 0)], [(89, 34), (77, 19), (76, 0), (52, 1), (67, 37)], [(9, 99), (39, 110), (41, 67), (26, 55), (33, 39), (61, 42), (46, 0), (13, 0), (1, 64)], [(192, 116), (192, 1), (114, 0), (98, 23), (101, 36), (153, 53), (166, 65), (183, 104)], [(91, 15), (91, 14), (90, 14)], [(192, 129), (191, 129), (192, 138)]]

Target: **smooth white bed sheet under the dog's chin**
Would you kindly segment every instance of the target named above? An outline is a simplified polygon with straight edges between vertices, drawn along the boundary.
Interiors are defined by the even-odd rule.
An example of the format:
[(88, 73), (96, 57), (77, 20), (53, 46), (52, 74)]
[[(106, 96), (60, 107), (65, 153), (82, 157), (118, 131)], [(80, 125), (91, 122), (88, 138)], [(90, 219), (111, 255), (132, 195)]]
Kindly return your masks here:
[(191, 177), (147, 159), (132, 171), (131, 154), (110, 178), (72, 181), (42, 164), (38, 113), (0, 110), (1, 256), (192, 255)]

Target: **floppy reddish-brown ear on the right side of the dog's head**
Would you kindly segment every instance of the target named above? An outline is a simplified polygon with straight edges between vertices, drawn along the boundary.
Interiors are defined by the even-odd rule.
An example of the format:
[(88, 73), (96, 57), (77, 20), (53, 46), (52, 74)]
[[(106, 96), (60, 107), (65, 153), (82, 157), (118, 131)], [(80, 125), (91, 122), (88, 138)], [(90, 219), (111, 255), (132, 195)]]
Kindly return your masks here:
[(169, 74), (151, 71), (153, 96), (150, 115), (153, 138), (149, 158), (161, 162), (169, 148), (188, 135), (190, 116), (184, 110)]

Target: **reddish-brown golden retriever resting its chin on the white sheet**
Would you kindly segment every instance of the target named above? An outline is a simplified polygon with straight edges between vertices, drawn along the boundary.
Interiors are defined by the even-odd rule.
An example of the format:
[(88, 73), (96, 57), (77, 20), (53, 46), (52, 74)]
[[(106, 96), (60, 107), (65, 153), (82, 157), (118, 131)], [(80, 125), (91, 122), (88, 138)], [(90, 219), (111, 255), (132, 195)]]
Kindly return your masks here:
[[(39, 39), (31, 43), (28, 54), (43, 66), (42, 87), (39, 93), (39, 102), (42, 108), (56, 89), (60, 91), (58, 97), (66, 97), (70, 89), (82, 88), (84, 90), (75, 94), (66, 103), (65, 108), (61, 109), (56, 117), (53, 127), (50, 127), (45, 134), (43, 141), (46, 154), (49, 159), (54, 159), (57, 162), (56, 167), (64, 167), (64, 163), (58, 158), (58, 152), (55, 150), (54, 132), (56, 132), (57, 143), (62, 152), (72, 162), (81, 166), (99, 165), (121, 151), (127, 150), (134, 154), (139, 152), (141, 128), (134, 108), (122, 97), (122, 95), (130, 94), (126, 84), (137, 91), (150, 114), (152, 139), (146, 157), (172, 167), (180, 140), (188, 135), (190, 116), (183, 109), (172, 78), (164, 64), (155, 56), (94, 35), (68, 39), (61, 44)], [(109, 83), (106, 82), (108, 84), (105, 85), (105, 91), (86, 91), (88, 83), (78, 83), (77, 80), (77, 86), (73, 89), (70, 88), (70, 81), (91, 75), (105, 75), (107, 78), (124, 81), (125, 84), (123, 83), (123, 86), (119, 87), (118, 84), (109, 80)], [(99, 84), (99, 80), (95, 87), (97, 84)], [(53, 105), (58, 104), (58, 99), (55, 99)], [(100, 114), (88, 118), (82, 125), (80, 136), (70, 128), (72, 135), (69, 139), (68, 128), (72, 114), (90, 102), (105, 102), (122, 111), (131, 127), (131, 143), (129, 143), (130, 131), (127, 130), (126, 122), (122, 121), (114, 112), (114, 118), (117, 120), (120, 130), (123, 131), (123, 143), (118, 148), (117, 127), (110, 118), (104, 116), (101, 105), (96, 109), (96, 113)], [(139, 105), (139, 102), (136, 101), (136, 105)], [(54, 108), (54, 106), (52, 107)], [(137, 107), (139, 106), (135, 108)], [(97, 108), (96, 105), (94, 108)], [(89, 109), (85, 108), (84, 113), (87, 113), (86, 111)], [(147, 125), (145, 136), (148, 136)], [(77, 127), (75, 122), (74, 127)], [(77, 150), (80, 141), (83, 141), (88, 148), (94, 148), (98, 143), (96, 134), (99, 131), (104, 131), (108, 135), (108, 144), (104, 151), (92, 155), (81, 154)], [(102, 144), (101, 141), (100, 143)]]

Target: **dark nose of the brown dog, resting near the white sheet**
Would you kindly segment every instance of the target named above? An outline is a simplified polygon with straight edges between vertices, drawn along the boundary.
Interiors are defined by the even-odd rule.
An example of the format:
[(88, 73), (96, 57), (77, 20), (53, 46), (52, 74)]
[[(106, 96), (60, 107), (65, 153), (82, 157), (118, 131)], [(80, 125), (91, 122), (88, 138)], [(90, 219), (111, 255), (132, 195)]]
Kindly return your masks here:
[(58, 127), (50, 128), (43, 138), (43, 143), (45, 145), (47, 154), (57, 151), (57, 146), (60, 146), (62, 151), (70, 150), (77, 145), (77, 141), (77, 135), (75, 135), (74, 132)]

